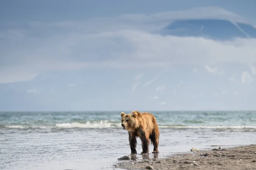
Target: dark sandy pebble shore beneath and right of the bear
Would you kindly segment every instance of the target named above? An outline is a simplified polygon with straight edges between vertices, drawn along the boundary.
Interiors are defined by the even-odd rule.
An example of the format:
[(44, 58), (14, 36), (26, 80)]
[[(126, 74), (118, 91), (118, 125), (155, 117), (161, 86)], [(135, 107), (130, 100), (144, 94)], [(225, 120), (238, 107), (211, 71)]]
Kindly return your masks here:
[[(191, 152), (191, 153), (190, 153)], [(194, 170), (216, 169), (216, 170), (256, 170), (256, 144), (237, 147), (216, 147), (212, 150), (196, 150), (189, 153), (177, 153), (167, 158), (153, 159), (143, 156), (143, 160), (136, 160), (136, 155), (122, 157), (114, 169), (145, 170), (152, 166), (154, 170)], [(152, 168), (151, 167), (151, 168)]]

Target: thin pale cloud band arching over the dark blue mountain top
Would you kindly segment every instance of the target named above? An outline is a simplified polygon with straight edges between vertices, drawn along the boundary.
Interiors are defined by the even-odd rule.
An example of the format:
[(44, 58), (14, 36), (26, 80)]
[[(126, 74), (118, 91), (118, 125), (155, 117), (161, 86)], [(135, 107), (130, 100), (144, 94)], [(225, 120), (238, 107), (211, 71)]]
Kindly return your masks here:
[[(248, 23), (247, 20), (231, 11), (217, 6), (205, 6), (187, 10), (163, 11), (154, 14), (122, 14), (113, 17), (94, 17), (81, 21), (59, 21), (55, 23), (30, 22), (33, 28), (62, 30), (75, 29), (87, 33), (117, 31), (120, 29), (154, 30), (162, 28), (177, 19), (225, 19), (233, 22)], [(157, 23), (157, 24), (156, 24)]]

